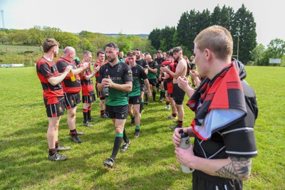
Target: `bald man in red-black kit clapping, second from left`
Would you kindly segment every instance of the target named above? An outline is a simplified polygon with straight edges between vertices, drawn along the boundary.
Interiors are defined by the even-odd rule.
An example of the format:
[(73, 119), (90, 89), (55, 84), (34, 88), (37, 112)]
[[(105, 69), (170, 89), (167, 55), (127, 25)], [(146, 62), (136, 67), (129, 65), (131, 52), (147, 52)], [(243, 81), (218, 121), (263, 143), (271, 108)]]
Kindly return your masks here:
[(71, 75), (67, 75), (63, 80), (63, 92), (64, 100), (66, 102), (67, 124), (71, 134), (71, 140), (73, 142), (81, 143), (82, 140), (78, 138), (78, 133), (76, 131), (76, 108), (77, 104), (81, 102), (81, 80), (78, 76), (83, 70), (88, 68), (88, 63), (83, 63), (81, 68), (77, 68), (76, 63), (73, 61), (76, 56), (76, 50), (73, 47), (67, 46), (63, 50), (63, 55), (61, 58), (56, 60), (56, 67), (59, 73), (63, 73), (68, 65), (73, 68), (73, 75), (76, 78), (75, 81), (71, 80)]

